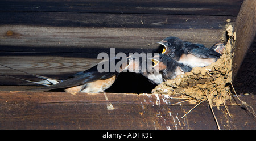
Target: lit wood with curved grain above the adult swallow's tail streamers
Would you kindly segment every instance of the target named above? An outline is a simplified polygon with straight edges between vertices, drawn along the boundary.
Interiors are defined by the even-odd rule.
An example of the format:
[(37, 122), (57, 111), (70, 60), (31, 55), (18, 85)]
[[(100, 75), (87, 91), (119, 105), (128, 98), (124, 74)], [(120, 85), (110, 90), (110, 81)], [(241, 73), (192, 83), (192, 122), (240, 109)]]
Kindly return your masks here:
[[(61, 56), (0, 56), (0, 64), (38, 75), (72, 74), (90, 69), (100, 62), (97, 58)], [(0, 66), (2, 73), (22, 75), (24, 73)], [(25, 74), (24, 74), (25, 75)]]

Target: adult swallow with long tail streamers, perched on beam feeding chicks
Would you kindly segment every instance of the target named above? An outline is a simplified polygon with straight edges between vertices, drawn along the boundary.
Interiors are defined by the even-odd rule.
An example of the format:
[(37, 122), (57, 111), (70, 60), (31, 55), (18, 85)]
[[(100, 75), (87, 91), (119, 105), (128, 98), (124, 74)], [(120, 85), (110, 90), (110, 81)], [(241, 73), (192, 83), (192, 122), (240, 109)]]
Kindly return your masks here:
[[(109, 62), (113, 61), (113, 59), (109, 59), (108, 61)], [(73, 95), (75, 95), (78, 92), (86, 92), (86, 93), (104, 92), (106, 89), (112, 86), (112, 84), (115, 82), (115, 79), (117, 79), (118, 74), (122, 70), (126, 69), (126, 67), (129, 65), (129, 60), (125, 59), (125, 61), (123, 60), (121, 61), (122, 61), (121, 62), (122, 64), (120, 65), (120, 69), (115, 70), (114, 72), (110, 72), (110, 71), (99, 72), (98, 65), (96, 65), (88, 70), (78, 72), (77, 74), (72, 75), (67, 80), (56, 80), (56, 79), (46, 78), (44, 76), (32, 74), (33, 76), (44, 79), (43, 83), (42, 81), (41, 82), (32, 82), (30, 80), (26, 80), (26, 81), (47, 86), (47, 87), (35, 89), (38, 91), (49, 91), (51, 89), (64, 88), (65, 92), (72, 93)], [(119, 61), (115, 61), (115, 65), (117, 64), (117, 62)], [(110, 70), (110, 67), (109, 67), (109, 70)], [(5, 74), (2, 74), (2, 75), (5, 75)], [(54, 83), (52, 83), (52, 80), (54, 80)]]

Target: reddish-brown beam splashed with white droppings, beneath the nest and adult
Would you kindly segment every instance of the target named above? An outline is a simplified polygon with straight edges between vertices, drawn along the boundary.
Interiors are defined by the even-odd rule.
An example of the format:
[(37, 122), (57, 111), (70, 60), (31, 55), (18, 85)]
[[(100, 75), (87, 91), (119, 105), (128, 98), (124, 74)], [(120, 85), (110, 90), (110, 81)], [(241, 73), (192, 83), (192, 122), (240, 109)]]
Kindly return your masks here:
[[(194, 105), (167, 95), (125, 93), (69, 95), (64, 92), (0, 92), (1, 129), (217, 129), (203, 103)], [(255, 108), (253, 95), (241, 96)], [(232, 102), (234, 103), (234, 101)], [(255, 129), (255, 120), (238, 105), (213, 108), (221, 129)], [(109, 106), (113, 106), (110, 109)]]

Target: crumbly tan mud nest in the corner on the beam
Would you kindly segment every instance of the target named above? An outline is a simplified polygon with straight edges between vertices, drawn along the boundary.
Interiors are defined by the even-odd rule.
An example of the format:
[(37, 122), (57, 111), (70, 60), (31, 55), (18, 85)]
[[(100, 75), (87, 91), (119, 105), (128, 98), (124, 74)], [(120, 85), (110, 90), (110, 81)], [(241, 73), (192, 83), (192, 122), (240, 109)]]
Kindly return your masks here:
[(230, 97), (232, 82), (232, 49), (236, 41), (232, 25), (226, 28), (228, 41), (222, 56), (206, 67), (195, 67), (191, 72), (167, 80), (152, 90), (152, 93), (180, 95), (188, 102), (208, 101), (212, 106), (225, 104)]

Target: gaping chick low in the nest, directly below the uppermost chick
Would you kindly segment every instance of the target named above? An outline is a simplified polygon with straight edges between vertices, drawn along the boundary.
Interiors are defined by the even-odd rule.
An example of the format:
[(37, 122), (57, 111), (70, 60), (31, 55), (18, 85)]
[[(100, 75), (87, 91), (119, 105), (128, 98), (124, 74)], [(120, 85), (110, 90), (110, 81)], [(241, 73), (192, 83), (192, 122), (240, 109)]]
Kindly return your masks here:
[(185, 72), (190, 72), (192, 70), (191, 67), (183, 65), (164, 54), (154, 56), (152, 62), (154, 62), (154, 66), (152, 66), (153, 68), (158, 66), (164, 81), (174, 79), (177, 75), (185, 74)]

